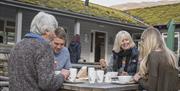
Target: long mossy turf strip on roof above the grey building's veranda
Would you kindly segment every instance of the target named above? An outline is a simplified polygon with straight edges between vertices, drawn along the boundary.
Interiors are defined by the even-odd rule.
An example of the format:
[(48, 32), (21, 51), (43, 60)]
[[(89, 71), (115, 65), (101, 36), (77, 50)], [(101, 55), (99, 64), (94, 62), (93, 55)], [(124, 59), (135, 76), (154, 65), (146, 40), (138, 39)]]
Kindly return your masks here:
[(81, 0), (18, 0), (18, 1), (30, 3), (34, 5), (45, 6), (49, 8), (68, 10), (71, 12), (101, 17), (105, 19), (117, 20), (124, 23), (139, 24), (136, 20), (127, 16), (120, 10), (115, 10), (91, 3), (87, 7), (84, 6), (84, 2), (82, 2)]

